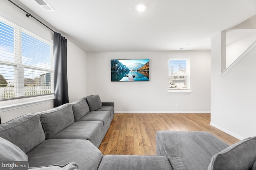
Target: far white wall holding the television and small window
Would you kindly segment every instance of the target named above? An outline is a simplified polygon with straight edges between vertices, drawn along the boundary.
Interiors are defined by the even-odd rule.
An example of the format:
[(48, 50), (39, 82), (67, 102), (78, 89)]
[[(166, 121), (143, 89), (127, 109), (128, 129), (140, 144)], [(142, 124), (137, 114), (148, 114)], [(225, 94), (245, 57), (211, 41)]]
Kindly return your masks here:
[[(172, 57), (191, 59), (190, 94), (168, 93)], [(140, 58), (150, 59), (149, 82), (111, 82), (110, 59)], [(210, 51), (86, 53), (86, 92), (115, 102), (119, 113), (209, 113), (210, 58)]]

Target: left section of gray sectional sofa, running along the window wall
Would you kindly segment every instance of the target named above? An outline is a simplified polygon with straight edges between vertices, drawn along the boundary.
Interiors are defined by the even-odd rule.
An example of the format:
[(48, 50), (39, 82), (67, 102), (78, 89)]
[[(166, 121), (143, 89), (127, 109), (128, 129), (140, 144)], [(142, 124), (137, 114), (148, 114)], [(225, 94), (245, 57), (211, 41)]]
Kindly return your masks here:
[(103, 158), (98, 147), (113, 117), (114, 102), (101, 102), (98, 95), (28, 113), (0, 125), (0, 160), (96, 170)]

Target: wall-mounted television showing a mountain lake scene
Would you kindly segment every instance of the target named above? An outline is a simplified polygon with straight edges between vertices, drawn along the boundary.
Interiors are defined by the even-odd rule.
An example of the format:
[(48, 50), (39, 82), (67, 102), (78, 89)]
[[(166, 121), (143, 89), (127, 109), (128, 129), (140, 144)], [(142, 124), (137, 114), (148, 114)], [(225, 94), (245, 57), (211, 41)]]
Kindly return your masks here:
[(111, 81), (149, 81), (149, 59), (111, 60)]

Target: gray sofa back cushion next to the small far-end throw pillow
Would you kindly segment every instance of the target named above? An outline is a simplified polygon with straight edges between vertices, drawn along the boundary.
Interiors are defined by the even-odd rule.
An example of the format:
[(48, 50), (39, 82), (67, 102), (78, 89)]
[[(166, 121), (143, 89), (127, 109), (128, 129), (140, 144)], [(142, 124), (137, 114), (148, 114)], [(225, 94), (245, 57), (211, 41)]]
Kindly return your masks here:
[(86, 113), (90, 111), (90, 108), (86, 102), (86, 98), (79, 99), (71, 104), (75, 121), (79, 120), (81, 117), (83, 117), (84, 115), (86, 115)]

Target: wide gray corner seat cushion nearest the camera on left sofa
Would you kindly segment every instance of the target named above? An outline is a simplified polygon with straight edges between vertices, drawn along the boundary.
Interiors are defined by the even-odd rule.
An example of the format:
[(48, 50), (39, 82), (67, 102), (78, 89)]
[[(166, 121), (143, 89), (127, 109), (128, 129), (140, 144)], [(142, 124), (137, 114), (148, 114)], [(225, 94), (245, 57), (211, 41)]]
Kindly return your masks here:
[(102, 153), (84, 139), (48, 139), (27, 153), (30, 167), (76, 162), (81, 170), (96, 170)]

